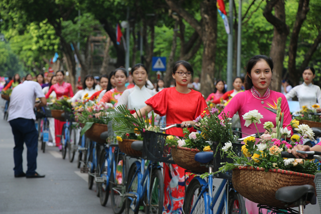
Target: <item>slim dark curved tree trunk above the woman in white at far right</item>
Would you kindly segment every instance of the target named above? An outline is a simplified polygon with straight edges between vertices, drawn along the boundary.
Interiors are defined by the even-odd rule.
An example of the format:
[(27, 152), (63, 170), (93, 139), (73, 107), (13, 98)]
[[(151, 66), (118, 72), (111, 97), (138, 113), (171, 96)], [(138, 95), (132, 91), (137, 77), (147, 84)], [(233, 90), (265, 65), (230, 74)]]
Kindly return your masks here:
[(288, 61), (288, 73), (291, 83), (294, 86), (299, 84), (299, 79), (301, 72), (296, 69), (296, 51), (297, 51), (297, 42), (299, 33), (302, 27), (304, 20), (306, 19), (306, 14), (309, 11), (309, 0), (300, 0), (295, 23), (293, 25), (293, 30), (290, 39), (289, 45), (289, 61)]

